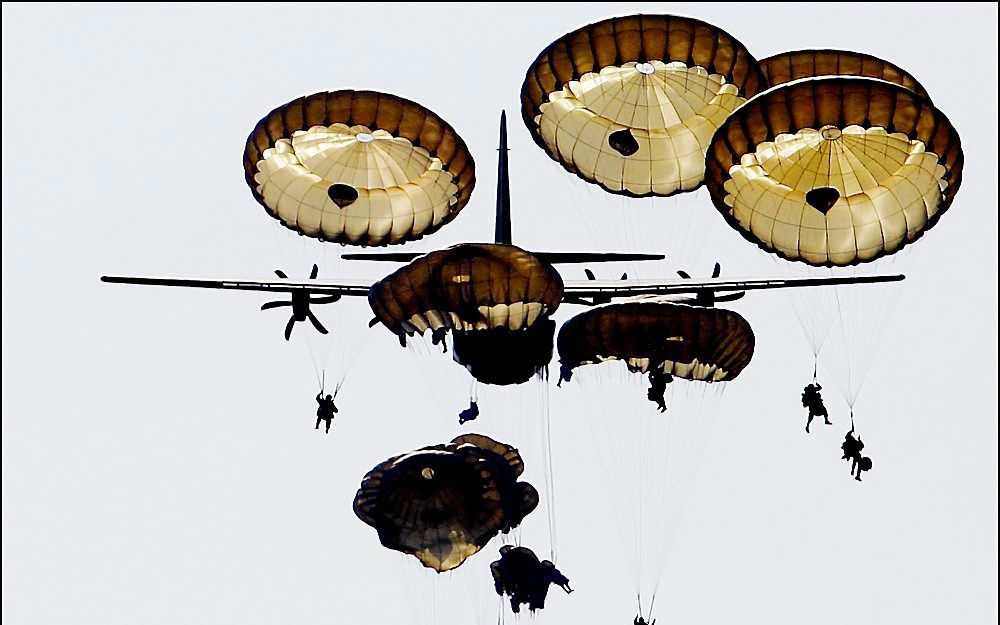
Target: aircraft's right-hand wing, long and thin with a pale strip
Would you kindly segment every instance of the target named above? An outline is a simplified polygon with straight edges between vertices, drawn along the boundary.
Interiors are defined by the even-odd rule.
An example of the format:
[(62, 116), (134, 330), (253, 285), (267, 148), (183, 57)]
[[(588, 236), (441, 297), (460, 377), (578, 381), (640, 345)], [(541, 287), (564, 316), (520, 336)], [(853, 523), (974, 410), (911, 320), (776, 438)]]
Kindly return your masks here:
[(684, 293), (727, 293), (762, 289), (787, 289), (836, 284), (870, 284), (898, 282), (903, 275), (884, 276), (822, 276), (815, 278), (710, 278), (707, 280), (566, 280), (565, 299), (581, 297), (599, 299), (633, 297), (636, 295), (674, 295)]

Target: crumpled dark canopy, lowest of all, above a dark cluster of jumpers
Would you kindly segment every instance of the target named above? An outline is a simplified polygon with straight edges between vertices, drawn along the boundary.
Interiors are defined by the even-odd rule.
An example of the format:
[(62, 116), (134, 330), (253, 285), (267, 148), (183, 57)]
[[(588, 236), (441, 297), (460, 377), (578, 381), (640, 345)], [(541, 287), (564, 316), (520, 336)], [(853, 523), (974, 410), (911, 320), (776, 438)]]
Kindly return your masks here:
[(517, 449), (480, 434), (395, 456), (365, 475), (354, 513), (389, 549), (448, 571), (538, 506), (538, 492), (518, 482)]

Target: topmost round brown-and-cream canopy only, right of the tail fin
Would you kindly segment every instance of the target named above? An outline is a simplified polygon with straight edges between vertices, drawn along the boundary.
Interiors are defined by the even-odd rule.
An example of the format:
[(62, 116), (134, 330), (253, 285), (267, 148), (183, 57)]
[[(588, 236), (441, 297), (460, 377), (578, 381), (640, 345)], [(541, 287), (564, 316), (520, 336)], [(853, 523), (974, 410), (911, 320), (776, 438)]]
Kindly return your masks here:
[(616, 17), (550, 44), (521, 87), (542, 149), (607, 191), (670, 195), (699, 186), (715, 130), (766, 79), (728, 33), (671, 15)]

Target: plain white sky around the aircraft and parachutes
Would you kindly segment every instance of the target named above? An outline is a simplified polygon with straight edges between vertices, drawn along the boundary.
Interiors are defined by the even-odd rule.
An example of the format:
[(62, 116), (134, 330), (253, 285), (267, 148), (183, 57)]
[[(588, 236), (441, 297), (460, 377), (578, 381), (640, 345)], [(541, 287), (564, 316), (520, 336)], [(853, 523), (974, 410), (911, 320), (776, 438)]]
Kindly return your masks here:
[[(243, 181), (244, 140), (274, 106), (341, 88), (424, 104), (477, 159), (471, 203), (420, 249), (492, 234), (502, 107), (515, 242), (591, 247), (561, 197), (565, 174), (520, 122), (518, 91), (548, 42), (638, 11), (706, 20), (758, 58), (835, 47), (890, 59), (966, 155), (859, 404), (876, 463), (862, 487), (838, 461), (832, 388), (838, 426), (801, 432), (811, 356), (786, 300), (734, 306), (757, 354), (726, 391), (661, 623), (995, 623), (997, 7), (952, 3), (5, 4), (4, 623), (412, 622), (388, 572), (401, 559), (350, 503), (377, 462), (444, 440), (414, 360), (376, 333), (323, 436), (305, 345), (282, 340), (280, 313), (257, 312), (265, 298), (98, 276), (269, 275), (278, 226)], [(708, 254), (729, 275), (773, 269), (718, 226)], [(555, 591), (539, 618), (631, 623), (616, 529), (560, 392), (559, 563), (579, 591)], [(493, 553), (467, 566), (486, 575)]]

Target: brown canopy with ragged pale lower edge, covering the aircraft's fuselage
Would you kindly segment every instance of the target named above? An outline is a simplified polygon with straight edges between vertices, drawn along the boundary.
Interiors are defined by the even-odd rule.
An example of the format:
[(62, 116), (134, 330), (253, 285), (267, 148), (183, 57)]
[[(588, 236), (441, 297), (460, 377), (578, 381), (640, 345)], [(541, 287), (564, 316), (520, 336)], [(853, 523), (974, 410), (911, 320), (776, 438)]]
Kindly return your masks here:
[(395, 334), (521, 330), (559, 307), (559, 273), (513, 245), (463, 243), (421, 256), (372, 285), (375, 316)]

